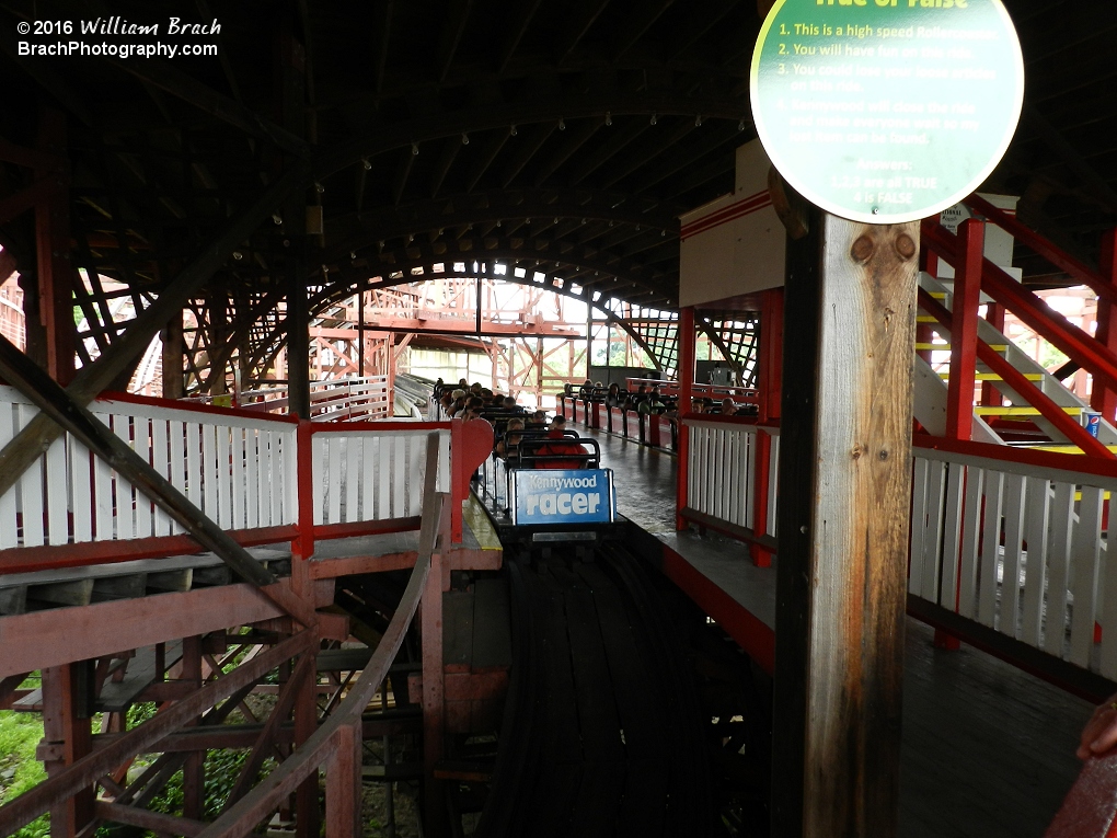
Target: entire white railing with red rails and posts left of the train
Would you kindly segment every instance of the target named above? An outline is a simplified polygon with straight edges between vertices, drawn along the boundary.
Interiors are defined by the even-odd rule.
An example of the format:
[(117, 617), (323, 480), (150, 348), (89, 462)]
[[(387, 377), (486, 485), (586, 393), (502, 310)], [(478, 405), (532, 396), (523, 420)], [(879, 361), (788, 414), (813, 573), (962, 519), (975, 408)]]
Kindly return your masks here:
[[(467, 460), (487, 455), (461, 422), (299, 422), (295, 418), (127, 394), (90, 411), (245, 544), (409, 528), (422, 514), (424, 451), (440, 436), (437, 488), (454, 495), (460, 539)], [(0, 385), (0, 447), (38, 413)], [(458, 428), (455, 430), (455, 428)], [(455, 435), (460, 435), (460, 438)], [(451, 438), (461, 456), (451, 463)], [(480, 455), (467, 449), (478, 448)], [(299, 456), (302, 450), (303, 456)], [(455, 475), (454, 467), (465, 469)], [(300, 505), (299, 498), (309, 497)], [(381, 522), (386, 522), (380, 525)], [(0, 496), (0, 573), (192, 552), (183, 528), (69, 435)]]

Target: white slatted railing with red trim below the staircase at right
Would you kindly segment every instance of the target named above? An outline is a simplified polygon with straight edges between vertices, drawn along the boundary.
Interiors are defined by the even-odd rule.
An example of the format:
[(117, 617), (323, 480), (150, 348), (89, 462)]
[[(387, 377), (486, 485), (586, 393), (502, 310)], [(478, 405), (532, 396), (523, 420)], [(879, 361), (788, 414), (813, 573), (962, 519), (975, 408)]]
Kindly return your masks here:
[(1117, 573), (1106, 574), (1102, 526), (1117, 475), (1090, 474), (1104, 464), (1072, 455), (914, 454), (908, 591), (1117, 678)]

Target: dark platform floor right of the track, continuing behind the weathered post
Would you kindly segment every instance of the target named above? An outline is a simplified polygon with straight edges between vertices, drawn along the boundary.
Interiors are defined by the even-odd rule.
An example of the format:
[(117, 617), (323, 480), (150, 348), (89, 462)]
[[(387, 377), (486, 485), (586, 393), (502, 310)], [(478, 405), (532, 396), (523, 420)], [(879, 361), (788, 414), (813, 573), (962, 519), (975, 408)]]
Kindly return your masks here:
[[(763, 665), (774, 566), (716, 533), (675, 532), (672, 454), (577, 430), (601, 445), (618, 511), (662, 545), (665, 573)], [(1081, 769), (1075, 749), (1092, 706), (970, 646), (935, 648), (915, 619), (906, 631), (900, 836), (1039, 838)]]

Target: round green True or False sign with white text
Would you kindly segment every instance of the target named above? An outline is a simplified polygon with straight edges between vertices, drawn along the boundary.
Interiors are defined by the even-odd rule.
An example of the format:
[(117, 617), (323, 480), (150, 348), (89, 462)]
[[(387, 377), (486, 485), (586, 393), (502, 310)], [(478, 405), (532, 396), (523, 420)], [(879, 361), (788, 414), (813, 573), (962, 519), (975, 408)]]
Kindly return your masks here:
[(1020, 120), (1024, 65), (1000, 0), (777, 0), (753, 53), (753, 116), (780, 173), (867, 223), (974, 191)]

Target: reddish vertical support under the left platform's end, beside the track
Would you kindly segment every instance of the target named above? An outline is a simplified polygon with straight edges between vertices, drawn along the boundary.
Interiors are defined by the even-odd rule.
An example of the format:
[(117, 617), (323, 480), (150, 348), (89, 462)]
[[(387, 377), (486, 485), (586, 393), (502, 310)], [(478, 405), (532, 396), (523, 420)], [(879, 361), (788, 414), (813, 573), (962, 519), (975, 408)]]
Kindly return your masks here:
[(442, 562), (435, 553), (420, 606), (422, 638), (422, 741), (423, 741), (423, 827), (431, 838), (447, 834), (443, 782), (435, 779), (435, 765), (442, 759), (443, 705), (442, 672)]

